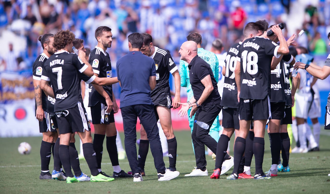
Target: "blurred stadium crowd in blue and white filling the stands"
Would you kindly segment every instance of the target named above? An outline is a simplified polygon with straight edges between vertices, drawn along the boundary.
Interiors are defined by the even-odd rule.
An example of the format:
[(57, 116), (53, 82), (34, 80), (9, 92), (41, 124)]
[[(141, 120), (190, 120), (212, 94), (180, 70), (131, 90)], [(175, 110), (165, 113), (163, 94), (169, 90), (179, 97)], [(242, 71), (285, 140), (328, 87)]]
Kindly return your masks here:
[(280, 0), (1, 0), (1, 42), (8, 46), (0, 50), (0, 69), (31, 68), (41, 49), (38, 37), (60, 29), (70, 29), (91, 48), (94, 31), (102, 25), (112, 28), (113, 61), (128, 51), (126, 38), (133, 32), (151, 34), (154, 42), (169, 50), (174, 61), (179, 62), (177, 51), (189, 32), (199, 32), (207, 49), (215, 38), (220, 38), (226, 50), (237, 39), (243, 40), (246, 23), (258, 19), (286, 23), (285, 38), (306, 29), (297, 43), (313, 54), (324, 55), (330, 2), (288, 2), (289, 5)]

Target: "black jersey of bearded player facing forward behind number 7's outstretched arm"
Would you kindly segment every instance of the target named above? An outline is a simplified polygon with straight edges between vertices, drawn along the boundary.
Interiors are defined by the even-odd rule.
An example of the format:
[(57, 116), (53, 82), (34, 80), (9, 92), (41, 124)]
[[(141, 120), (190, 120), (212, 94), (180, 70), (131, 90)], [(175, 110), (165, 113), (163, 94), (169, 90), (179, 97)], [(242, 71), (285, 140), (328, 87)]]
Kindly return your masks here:
[[(111, 61), (109, 53), (96, 46), (89, 54), (89, 63), (92, 65), (94, 73), (99, 77), (112, 77)], [(105, 98), (99, 94), (92, 84), (89, 87), (89, 103), (88, 106), (94, 106), (97, 102), (106, 104)], [(112, 85), (102, 86), (112, 100)]]

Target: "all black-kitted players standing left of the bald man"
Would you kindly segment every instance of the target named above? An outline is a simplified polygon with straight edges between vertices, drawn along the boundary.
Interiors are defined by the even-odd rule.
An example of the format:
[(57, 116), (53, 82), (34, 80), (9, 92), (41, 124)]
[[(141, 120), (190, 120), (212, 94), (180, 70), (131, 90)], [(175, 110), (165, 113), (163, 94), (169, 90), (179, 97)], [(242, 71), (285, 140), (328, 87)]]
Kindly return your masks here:
[[(144, 37), (144, 46), (141, 48), (142, 53), (152, 57), (157, 63), (157, 84), (151, 93), (151, 98), (155, 104), (155, 113), (158, 112), (156, 115), (161, 118), (161, 125), (164, 124), (162, 128), (167, 136), (169, 147), (169, 170), (177, 172), (175, 169), (177, 143), (171, 125), (170, 108), (172, 106), (174, 108), (180, 106), (178, 104), (180, 102), (180, 75), (170, 54), (165, 50), (153, 46), (152, 37), (149, 34), (144, 33), (142, 35)], [(38, 84), (35, 84), (35, 89), (36, 85), (38, 86), (38, 92), (35, 95), (36, 106), (41, 105), (36, 107), (36, 117), (39, 120), (40, 132), (43, 132), (43, 137), (47, 137), (47, 135), (56, 136), (56, 130), (61, 137), (57, 138), (57, 140), (48, 140), (50, 147), (47, 147), (49, 149), (46, 151), (46, 157), (44, 154), (45, 146), (43, 145), (45, 143), (44, 141), (42, 142), (40, 152), (42, 172), (40, 179), (53, 178), (67, 180), (67, 183), (71, 183), (88, 180), (112, 181), (114, 178), (119, 177), (133, 177), (133, 175), (121, 170), (118, 163), (116, 127), (114, 124), (114, 113), (118, 111), (118, 106), (115, 104), (116, 100), (111, 86), (111, 84), (117, 83), (118, 80), (116, 77), (111, 78), (111, 61), (109, 54), (106, 52), (106, 49), (111, 47), (111, 37), (112, 33), (109, 27), (100, 26), (96, 29), (95, 38), (98, 41), (98, 45), (95, 49), (91, 50), (89, 62), (85, 59), (85, 53), (82, 51), (82, 43), (79, 48), (76, 46), (77, 49), (80, 49), (79, 54), (76, 55), (73, 53), (72, 42), (75, 38), (74, 34), (70, 31), (60, 31), (56, 35), (45, 34), (39, 38), (44, 52), (37, 58), (33, 65), (34, 81), (39, 81)], [(55, 52), (56, 50), (57, 52)], [(173, 74), (175, 83), (177, 83), (176, 89), (178, 88), (173, 103), (168, 83), (170, 73)], [(80, 95), (81, 88), (79, 83), (81, 80), (89, 84), (89, 106), (91, 107), (95, 127), (93, 143), (89, 121)], [(39, 96), (41, 94), (43, 94), (42, 101), (44, 103), (39, 102), (39, 99), (41, 99)], [(158, 101), (155, 102), (155, 100)], [(162, 110), (162, 107), (167, 109), (167, 111)], [(44, 110), (45, 112), (40, 112), (40, 110)], [(43, 120), (44, 114), (51, 118)], [(57, 115), (57, 118), (54, 115)], [(53, 127), (49, 127), (50, 125)], [(52, 131), (50, 132), (49, 130)], [(78, 152), (74, 147), (74, 143), (72, 143), (74, 142), (75, 132), (82, 139), (83, 153), (91, 170), (91, 177), (88, 177), (80, 170)], [(142, 132), (144, 132), (143, 127), (141, 134), (143, 134)], [(105, 134), (107, 135), (107, 150), (114, 168), (113, 177), (101, 171), (102, 145)], [(147, 137), (145, 139), (143, 143), (146, 145), (143, 143), (141, 145), (140, 142), (139, 149), (139, 156), (141, 155), (139, 157), (139, 166), (143, 171), (143, 175), (149, 147)], [(50, 175), (49, 161), (51, 144), (54, 145), (52, 151), (54, 154), (54, 170)], [(61, 165), (63, 165), (65, 173), (62, 171)], [(75, 175), (72, 174), (71, 167)]]

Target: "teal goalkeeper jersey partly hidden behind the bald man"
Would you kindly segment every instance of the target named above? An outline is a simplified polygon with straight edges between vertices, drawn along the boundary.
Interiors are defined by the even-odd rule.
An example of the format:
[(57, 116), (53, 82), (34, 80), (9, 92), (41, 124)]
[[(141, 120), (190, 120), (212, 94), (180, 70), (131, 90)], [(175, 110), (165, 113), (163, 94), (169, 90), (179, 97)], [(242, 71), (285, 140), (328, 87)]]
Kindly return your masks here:
[[(216, 82), (219, 81), (219, 61), (213, 52), (207, 51), (204, 48), (197, 49), (197, 55), (204, 59), (210, 66), (214, 74)], [(181, 86), (186, 87), (187, 101), (193, 97), (190, 81), (189, 81), (189, 69), (188, 63), (180, 60), (180, 76)]]

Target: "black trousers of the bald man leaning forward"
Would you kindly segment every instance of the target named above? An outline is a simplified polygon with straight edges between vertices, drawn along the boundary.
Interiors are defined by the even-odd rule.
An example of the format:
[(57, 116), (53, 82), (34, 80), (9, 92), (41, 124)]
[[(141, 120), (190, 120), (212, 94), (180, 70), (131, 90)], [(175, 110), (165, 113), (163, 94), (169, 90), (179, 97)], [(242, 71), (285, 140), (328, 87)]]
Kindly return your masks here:
[[(204, 122), (211, 127), (220, 111), (220, 103), (208, 102), (206, 104), (201, 105), (201, 108), (197, 110), (195, 120)], [(194, 145), (195, 150), (196, 166), (198, 169), (201, 169), (203, 171), (206, 167), (204, 145), (210, 148), (213, 153), (216, 153), (217, 142), (211, 137), (211, 135), (209, 135), (210, 127), (209, 129), (204, 129), (194, 123), (194, 127), (191, 133), (192, 143)]]

